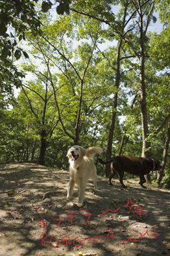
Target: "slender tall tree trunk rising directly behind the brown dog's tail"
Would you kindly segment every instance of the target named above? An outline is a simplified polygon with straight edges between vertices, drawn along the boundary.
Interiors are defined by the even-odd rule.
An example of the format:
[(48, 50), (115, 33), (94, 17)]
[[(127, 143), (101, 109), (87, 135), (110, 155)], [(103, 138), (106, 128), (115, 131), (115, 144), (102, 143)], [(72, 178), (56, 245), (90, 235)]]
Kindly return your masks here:
[[(117, 55), (116, 55), (116, 68), (115, 68), (115, 88), (117, 88), (116, 92), (114, 93), (114, 102), (112, 107), (112, 117), (110, 122), (110, 129), (108, 134), (108, 145), (106, 150), (106, 160), (112, 158), (112, 142), (114, 136), (114, 127), (115, 127), (115, 116), (117, 110), (117, 95), (118, 95), (118, 88), (119, 88), (119, 80), (120, 80), (120, 51), (121, 51), (121, 43), (122, 40), (119, 41), (117, 44)], [(106, 164), (106, 177), (109, 177), (111, 173), (110, 164)]]

